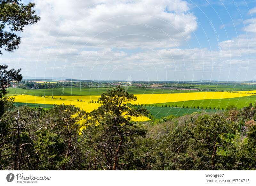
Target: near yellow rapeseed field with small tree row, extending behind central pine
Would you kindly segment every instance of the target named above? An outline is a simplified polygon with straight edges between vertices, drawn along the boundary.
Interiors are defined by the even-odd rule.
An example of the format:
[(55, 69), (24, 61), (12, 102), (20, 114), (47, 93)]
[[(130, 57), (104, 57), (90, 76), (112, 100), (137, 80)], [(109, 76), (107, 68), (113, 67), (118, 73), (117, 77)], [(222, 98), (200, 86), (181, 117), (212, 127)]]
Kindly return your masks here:
[[(74, 99), (75, 96), (73, 96), (73, 98), (71, 98), (72, 96), (55, 96), (56, 98), (53, 97), (53, 99), (51, 96), (41, 97), (41, 96), (31, 96), (31, 95), (18, 95), (18, 96), (12, 96), (12, 97), (15, 98), (14, 100), (15, 102), (21, 102), (21, 103), (36, 103), (36, 104), (50, 104), (50, 105), (53, 105), (53, 104), (60, 105), (64, 103), (65, 105), (75, 105), (76, 107), (79, 107), (86, 112), (91, 112), (92, 110), (97, 109), (98, 107), (101, 106), (101, 104), (98, 104), (98, 103), (89, 103), (89, 102), (84, 102), (80, 100), (77, 101), (78, 98), (76, 100), (72, 100)], [(59, 99), (60, 97), (61, 99)], [(64, 97), (67, 100), (63, 100)], [(147, 121), (147, 120), (149, 120), (147, 117), (132, 118), (132, 121)]]

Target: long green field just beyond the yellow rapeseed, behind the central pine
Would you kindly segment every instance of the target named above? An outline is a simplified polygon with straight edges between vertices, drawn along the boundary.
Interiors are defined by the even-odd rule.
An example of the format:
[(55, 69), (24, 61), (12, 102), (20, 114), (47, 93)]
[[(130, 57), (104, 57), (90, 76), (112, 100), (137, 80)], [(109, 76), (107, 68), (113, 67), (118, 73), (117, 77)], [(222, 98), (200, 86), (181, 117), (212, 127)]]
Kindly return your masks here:
[[(110, 88), (112, 89), (112, 88)], [(62, 88), (52, 88), (52, 89), (22, 89), (22, 88), (8, 88), (9, 93), (7, 96), (28, 94), (35, 96), (88, 96), (88, 95), (100, 95), (106, 92), (108, 88), (80, 88), (80, 87), (64, 87)], [(188, 90), (169, 90), (169, 89), (149, 89), (149, 88), (128, 88), (127, 91), (132, 94), (161, 94), (161, 93), (188, 93), (195, 91)]]

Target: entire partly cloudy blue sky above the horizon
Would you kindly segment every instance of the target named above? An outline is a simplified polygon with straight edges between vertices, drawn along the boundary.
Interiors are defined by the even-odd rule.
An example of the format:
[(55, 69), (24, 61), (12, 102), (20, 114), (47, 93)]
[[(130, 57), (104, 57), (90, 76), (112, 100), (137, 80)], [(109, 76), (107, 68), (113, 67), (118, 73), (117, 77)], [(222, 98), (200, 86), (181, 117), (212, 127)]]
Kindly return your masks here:
[(40, 21), (0, 57), (23, 76), (256, 80), (255, 0), (32, 2)]

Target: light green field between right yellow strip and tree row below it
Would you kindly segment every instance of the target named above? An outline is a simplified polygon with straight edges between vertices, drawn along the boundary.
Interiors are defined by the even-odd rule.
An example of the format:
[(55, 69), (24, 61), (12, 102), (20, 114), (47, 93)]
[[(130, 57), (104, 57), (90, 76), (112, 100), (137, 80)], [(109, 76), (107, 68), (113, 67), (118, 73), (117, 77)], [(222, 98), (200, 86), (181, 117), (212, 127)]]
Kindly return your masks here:
[(209, 108), (210, 106), (218, 108), (224, 108), (226, 109), (227, 106), (229, 105), (235, 105), (237, 108), (243, 108), (249, 105), (249, 103), (254, 103), (256, 102), (256, 95), (255, 96), (245, 96), (245, 97), (240, 97), (240, 98), (227, 98), (227, 99), (211, 99), (211, 100), (189, 100), (189, 101), (178, 101), (178, 102), (168, 102), (168, 103), (157, 103), (157, 106), (161, 106), (164, 104), (170, 105), (177, 105), (178, 107), (182, 107), (183, 105), (186, 107), (196, 107), (199, 106), (200, 108), (207, 107)]

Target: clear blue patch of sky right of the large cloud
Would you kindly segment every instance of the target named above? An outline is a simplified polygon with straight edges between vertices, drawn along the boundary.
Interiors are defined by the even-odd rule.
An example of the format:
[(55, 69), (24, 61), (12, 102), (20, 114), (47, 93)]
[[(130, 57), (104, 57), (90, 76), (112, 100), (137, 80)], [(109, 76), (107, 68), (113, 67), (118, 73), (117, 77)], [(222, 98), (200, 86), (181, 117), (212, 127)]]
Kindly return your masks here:
[[(220, 36), (220, 41), (236, 38), (237, 35), (244, 34), (245, 19), (252, 19), (255, 15), (250, 14), (249, 10), (256, 6), (255, 1), (188, 1), (192, 4), (191, 11), (198, 18), (198, 29), (195, 36), (190, 40), (190, 46), (218, 49), (218, 41), (212, 28), (209, 27), (209, 20), (212, 20), (216, 31)], [(207, 36), (205, 35), (207, 33)], [(209, 40), (209, 42), (208, 42)]]

